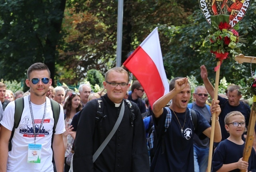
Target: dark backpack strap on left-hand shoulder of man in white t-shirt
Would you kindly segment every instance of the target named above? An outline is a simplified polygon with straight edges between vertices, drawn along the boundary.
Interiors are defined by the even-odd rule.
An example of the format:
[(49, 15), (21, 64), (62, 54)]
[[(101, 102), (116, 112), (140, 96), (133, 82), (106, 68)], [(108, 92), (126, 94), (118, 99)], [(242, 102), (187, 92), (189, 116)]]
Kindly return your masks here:
[(22, 112), (24, 109), (24, 98), (17, 98), (16, 100), (14, 100), (14, 104), (15, 104), (15, 110), (14, 110), (14, 125), (12, 128), (12, 133), (11, 133), (11, 137), (9, 139), (9, 144), (8, 144), (8, 150), (11, 151), (12, 150), (12, 138), (14, 135), (14, 130), (15, 128), (18, 128), (19, 124), (20, 124), (20, 120), (21, 120), (21, 116), (22, 116)]

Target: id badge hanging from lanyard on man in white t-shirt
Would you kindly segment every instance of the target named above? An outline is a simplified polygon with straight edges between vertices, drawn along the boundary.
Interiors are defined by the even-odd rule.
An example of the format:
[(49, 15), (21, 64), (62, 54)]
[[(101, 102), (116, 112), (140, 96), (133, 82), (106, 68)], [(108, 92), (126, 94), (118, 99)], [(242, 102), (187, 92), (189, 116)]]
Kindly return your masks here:
[(42, 144), (28, 144), (28, 163), (41, 162)]

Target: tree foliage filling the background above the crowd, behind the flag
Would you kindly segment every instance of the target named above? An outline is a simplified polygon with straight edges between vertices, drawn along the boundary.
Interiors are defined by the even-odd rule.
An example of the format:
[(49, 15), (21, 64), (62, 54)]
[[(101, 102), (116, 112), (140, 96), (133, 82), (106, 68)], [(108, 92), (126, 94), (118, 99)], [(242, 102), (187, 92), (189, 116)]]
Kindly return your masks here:
[[(45, 62), (52, 74), (56, 63), (57, 79), (69, 85), (79, 84), (90, 69), (104, 74), (116, 65), (117, 8), (118, 0), (0, 0), (0, 78), (23, 78), (33, 62)], [(246, 56), (255, 56), (255, 20), (252, 1), (238, 30), (247, 39), (241, 48)], [(156, 26), (169, 79), (195, 76), (202, 84), (204, 64), (214, 83), (216, 62), (202, 47), (210, 25), (197, 0), (124, 0), (122, 62)], [(224, 60), (220, 70), (220, 79), (241, 86), (250, 76), (250, 64), (233, 60)]]

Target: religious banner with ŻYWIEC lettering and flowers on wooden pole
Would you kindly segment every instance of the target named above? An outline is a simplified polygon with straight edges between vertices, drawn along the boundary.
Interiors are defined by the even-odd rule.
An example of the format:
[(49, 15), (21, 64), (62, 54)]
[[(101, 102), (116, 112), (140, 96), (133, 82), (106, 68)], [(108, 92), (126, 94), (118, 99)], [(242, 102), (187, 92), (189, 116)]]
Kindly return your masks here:
[[(217, 65), (214, 68), (216, 72), (214, 100), (218, 99), (218, 85), (220, 77), (220, 65), (226, 58), (235, 59), (235, 56), (241, 54), (240, 46), (242, 39), (238, 34), (238, 22), (242, 20), (251, 0), (198, 0), (200, 9), (211, 25), (208, 29), (208, 36), (204, 39), (203, 46), (215, 55), (214, 60)], [(210, 149), (208, 156), (207, 172), (211, 171), (212, 148), (215, 129), (216, 114), (212, 114), (212, 132), (210, 136)]]

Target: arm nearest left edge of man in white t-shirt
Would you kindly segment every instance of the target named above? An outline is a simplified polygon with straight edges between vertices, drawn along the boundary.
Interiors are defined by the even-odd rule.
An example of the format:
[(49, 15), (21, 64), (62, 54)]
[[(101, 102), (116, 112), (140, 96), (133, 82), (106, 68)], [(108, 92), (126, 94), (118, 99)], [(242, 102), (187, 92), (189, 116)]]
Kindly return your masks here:
[(8, 130), (4, 126), (1, 126), (0, 132), (0, 172), (6, 172), (7, 159), (8, 159), (8, 143), (11, 137), (12, 131)]

